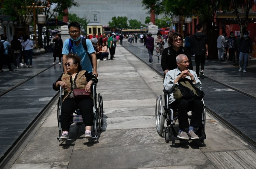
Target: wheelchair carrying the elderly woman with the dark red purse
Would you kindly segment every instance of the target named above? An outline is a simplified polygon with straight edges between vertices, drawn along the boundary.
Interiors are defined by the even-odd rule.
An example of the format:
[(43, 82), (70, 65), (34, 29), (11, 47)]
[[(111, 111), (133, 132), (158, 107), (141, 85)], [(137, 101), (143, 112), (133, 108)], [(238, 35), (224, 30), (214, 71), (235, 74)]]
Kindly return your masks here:
[[(66, 140), (73, 140), (73, 139), (60, 139), (62, 130), (61, 130), (61, 125), (60, 125), (60, 112), (61, 112), (61, 105), (62, 105), (62, 97), (61, 95), (61, 87), (59, 90), (59, 100), (57, 104), (57, 119), (58, 119), (58, 127), (59, 127), (59, 137), (57, 137), (57, 140), (60, 141), (66, 141)], [(92, 91), (93, 91), (93, 102), (94, 102), (94, 107), (93, 107), (93, 114), (94, 114), (94, 125), (93, 125), (93, 131), (95, 131), (95, 136), (88, 138), (88, 139), (97, 139), (97, 130), (101, 131), (103, 127), (103, 100), (102, 96), (100, 93), (97, 94), (97, 83), (94, 83), (92, 86)], [(79, 109), (73, 112), (73, 118), (70, 121), (70, 125), (73, 124), (74, 122), (83, 122), (83, 118), (81, 115), (81, 112)], [(86, 138), (84, 138), (86, 139)]]

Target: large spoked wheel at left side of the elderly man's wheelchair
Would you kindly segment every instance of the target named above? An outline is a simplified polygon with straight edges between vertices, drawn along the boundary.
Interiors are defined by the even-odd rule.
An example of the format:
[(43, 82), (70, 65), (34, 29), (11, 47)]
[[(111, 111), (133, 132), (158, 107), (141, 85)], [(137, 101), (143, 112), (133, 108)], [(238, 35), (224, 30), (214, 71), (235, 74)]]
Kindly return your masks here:
[(163, 94), (161, 94), (159, 97), (156, 99), (156, 131), (157, 133), (162, 136), (163, 133), (163, 127), (165, 125), (165, 116), (164, 116), (164, 108), (163, 105), (165, 105), (165, 97)]

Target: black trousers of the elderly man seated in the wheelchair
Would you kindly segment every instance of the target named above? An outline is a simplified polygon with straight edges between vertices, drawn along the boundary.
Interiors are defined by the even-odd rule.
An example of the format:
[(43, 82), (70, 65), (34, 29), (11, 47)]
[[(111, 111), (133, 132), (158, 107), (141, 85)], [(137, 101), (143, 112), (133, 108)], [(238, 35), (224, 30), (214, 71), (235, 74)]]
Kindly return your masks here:
[(170, 104), (171, 107), (178, 110), (179, 128), (189, 127), (187, 112), (193, 111), (190, 126), (202, 127), (203, 101), (187, 101), (186, 99), (175, 100)]

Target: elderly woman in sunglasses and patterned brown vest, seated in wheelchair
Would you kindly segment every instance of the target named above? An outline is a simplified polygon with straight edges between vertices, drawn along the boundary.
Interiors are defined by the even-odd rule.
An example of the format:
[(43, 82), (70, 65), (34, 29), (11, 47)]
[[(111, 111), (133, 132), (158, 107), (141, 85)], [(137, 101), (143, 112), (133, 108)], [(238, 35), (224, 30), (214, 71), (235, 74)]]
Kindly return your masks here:
[[(64, 89), (62, 98), (60, 124), (62, 134), (60, 140), (69, 138), (69, 127), (72, 120), (72, 114), (75, 110), (80, 109), (85, 124), (85, 138), (91, 138), (91, 126), (94, 122), (94, 100), (91, 94), (91, 85), (97, 83), (98, 79), (82, 70), (80, 58), (76, 54), (69, 54), (65, 63), (67, 73), (61, 74), (59, 79), (53, 83), (53, 89), (58, 91), (60, 86)], [(88, 93), (84, 97), (74, 97), (74, 89), (85, 89)]]

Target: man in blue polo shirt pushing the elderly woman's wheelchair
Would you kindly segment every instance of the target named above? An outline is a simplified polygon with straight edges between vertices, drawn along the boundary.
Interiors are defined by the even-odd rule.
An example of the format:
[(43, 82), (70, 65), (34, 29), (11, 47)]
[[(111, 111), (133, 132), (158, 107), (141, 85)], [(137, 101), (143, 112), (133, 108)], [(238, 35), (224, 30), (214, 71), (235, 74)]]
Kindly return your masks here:
[[(66, 39), (64, 41), (63, 50), (62, 50), (64, 72), (67, 73), (66, 67), (64, 65), (67, 62), (67, 55), (69, 53), (75, 53), (81, 58), (81, 65), (83, 67), (83, 70), (86, 70), (88, 71), (88, 73), (92, 73), (97, 77), (98, 76), (97, 58), (93, 48), (93, 44), (89, 39), (86, 40), (87, 51), (90, 54), (90, 56), (88, 56), (87, 51), (85, 51), (85, 49), (83, 48), (82, 39), (80, 37), (80, 34), (81, 34), (80, 24), (78, 22), (71, 22), (68, 26), (68, 29), (69, 29), (70, 38), (73, 41), (73, 47), (71, 51), (69, 51), (70, 40)], [(93, 58), (93, 66), (91, 65), (89, 57)]]

